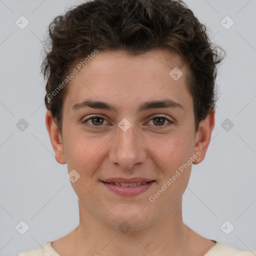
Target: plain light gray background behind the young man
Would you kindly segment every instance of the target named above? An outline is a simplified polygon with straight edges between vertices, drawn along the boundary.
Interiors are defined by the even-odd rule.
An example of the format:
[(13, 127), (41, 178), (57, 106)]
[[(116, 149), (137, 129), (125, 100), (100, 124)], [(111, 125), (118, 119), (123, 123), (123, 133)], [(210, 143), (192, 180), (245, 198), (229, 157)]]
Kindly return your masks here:
[[(79, 2), (0, 0), (0, 255), (39, 247), (78, 225), (76, 194), (66, 165), (55, 161), (45, 127), (39, 67), (47, 25)], [(212, 141), (204, 161), (192, 167), (183, 220), (207, 238), (256, 249), (256, 1), (185, 2), (227, 57), (217, 78)], [(24, 29), (15, 24), (21, 15), (29, 21)], [(229, 29), (220, 23), (226, 15), (234, 21)], [(21, 118), (28, 123), (23, 131), (16, 126)], [(221, 126), (226, 118), (229, 130)], [(15, 228), (21, 220), (29, 226), (24, 234)], [(230, 231), (229, 222), (220, 228), (226, 220), (234, 226), (229, 234), (222, 231)]]

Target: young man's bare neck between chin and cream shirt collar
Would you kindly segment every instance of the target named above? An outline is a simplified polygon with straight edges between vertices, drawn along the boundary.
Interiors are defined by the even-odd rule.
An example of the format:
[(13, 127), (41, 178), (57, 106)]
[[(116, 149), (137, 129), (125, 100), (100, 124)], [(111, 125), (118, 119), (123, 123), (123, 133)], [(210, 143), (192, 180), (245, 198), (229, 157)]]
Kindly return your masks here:
[[(168, 216), (148, 226), (122, 232), (93, 215), (78, 200), (80, 223), (75, 229), (75, 255), (185, 255), (188, 233), (181, 198)], [(166, 253), (167, 252), (167, 253)]]

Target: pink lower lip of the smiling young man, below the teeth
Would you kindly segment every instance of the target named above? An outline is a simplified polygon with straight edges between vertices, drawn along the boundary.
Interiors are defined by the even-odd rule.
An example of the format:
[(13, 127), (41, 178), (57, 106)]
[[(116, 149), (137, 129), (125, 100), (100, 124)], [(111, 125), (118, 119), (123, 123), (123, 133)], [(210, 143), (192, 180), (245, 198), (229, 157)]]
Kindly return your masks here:
[(138, 195), (142, 192), (146, 191), (154, 181), (150, 181), (146, 184), (141, 184), (138, 186), (117, 186), (117, 185), (111, 185), (106, 182), (101, 181), (106, 187), (108, 187), (111, 191), (123, 195), (123, 196), (132, 196), (132, 195)]

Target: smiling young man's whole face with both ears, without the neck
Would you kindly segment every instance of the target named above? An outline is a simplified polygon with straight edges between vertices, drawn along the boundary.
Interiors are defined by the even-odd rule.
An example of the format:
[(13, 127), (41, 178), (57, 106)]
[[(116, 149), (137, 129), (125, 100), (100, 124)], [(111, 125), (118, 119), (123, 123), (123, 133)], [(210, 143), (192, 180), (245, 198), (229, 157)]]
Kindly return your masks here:
[[(178, 63), (178, 56), (165, 50), (136, 56), (99, 51), (68, 85), (62, 142), (56, 139), (54, 123), (47, 124), (46, 114), (57, 161), (67, 162), (71, 179), (79, 175), (71, 184), (80, 214), (91, 214), (116, 228), (126, 221), (132, 229), (181, 216), (191, 163), (204, 158), (214, 113), (196, 133), (192, 97), (185, 84), (187, 69)], [(183, 73), (179, 78), (175, 69), (169, 74), (175, 66)], [(148, 105), (160, 100), (169, 100), (169, 106)], [(112, 107), (92, 108), (83, 101)], [(94, 115), (99, 117), (88, 119)], [(106, 183), (111, 181), (117, 184)], [(119, 184), (147, 181), (132, 187)]]

